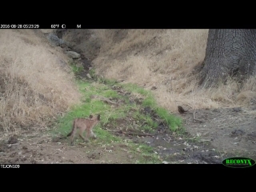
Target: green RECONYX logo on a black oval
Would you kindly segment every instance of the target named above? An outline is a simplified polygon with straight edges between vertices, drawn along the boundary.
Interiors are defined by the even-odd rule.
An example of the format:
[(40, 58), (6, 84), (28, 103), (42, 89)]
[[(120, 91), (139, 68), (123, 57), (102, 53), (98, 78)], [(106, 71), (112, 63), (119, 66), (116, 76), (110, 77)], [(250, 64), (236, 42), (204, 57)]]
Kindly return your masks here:
[(254, 166), (255, 161), (251, 158), (226, 158), (222, 161), (222, 164), (232, 168), (245, 168)]

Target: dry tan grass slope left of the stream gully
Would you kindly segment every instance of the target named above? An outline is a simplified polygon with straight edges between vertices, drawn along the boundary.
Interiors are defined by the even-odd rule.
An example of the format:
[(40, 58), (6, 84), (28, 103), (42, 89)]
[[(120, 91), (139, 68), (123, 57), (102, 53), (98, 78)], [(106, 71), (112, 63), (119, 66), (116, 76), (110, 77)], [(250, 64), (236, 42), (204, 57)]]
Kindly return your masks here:
[(0, 130), (43, 128), (79, 101), (67, 58), (38, 34), (0, 31)]

